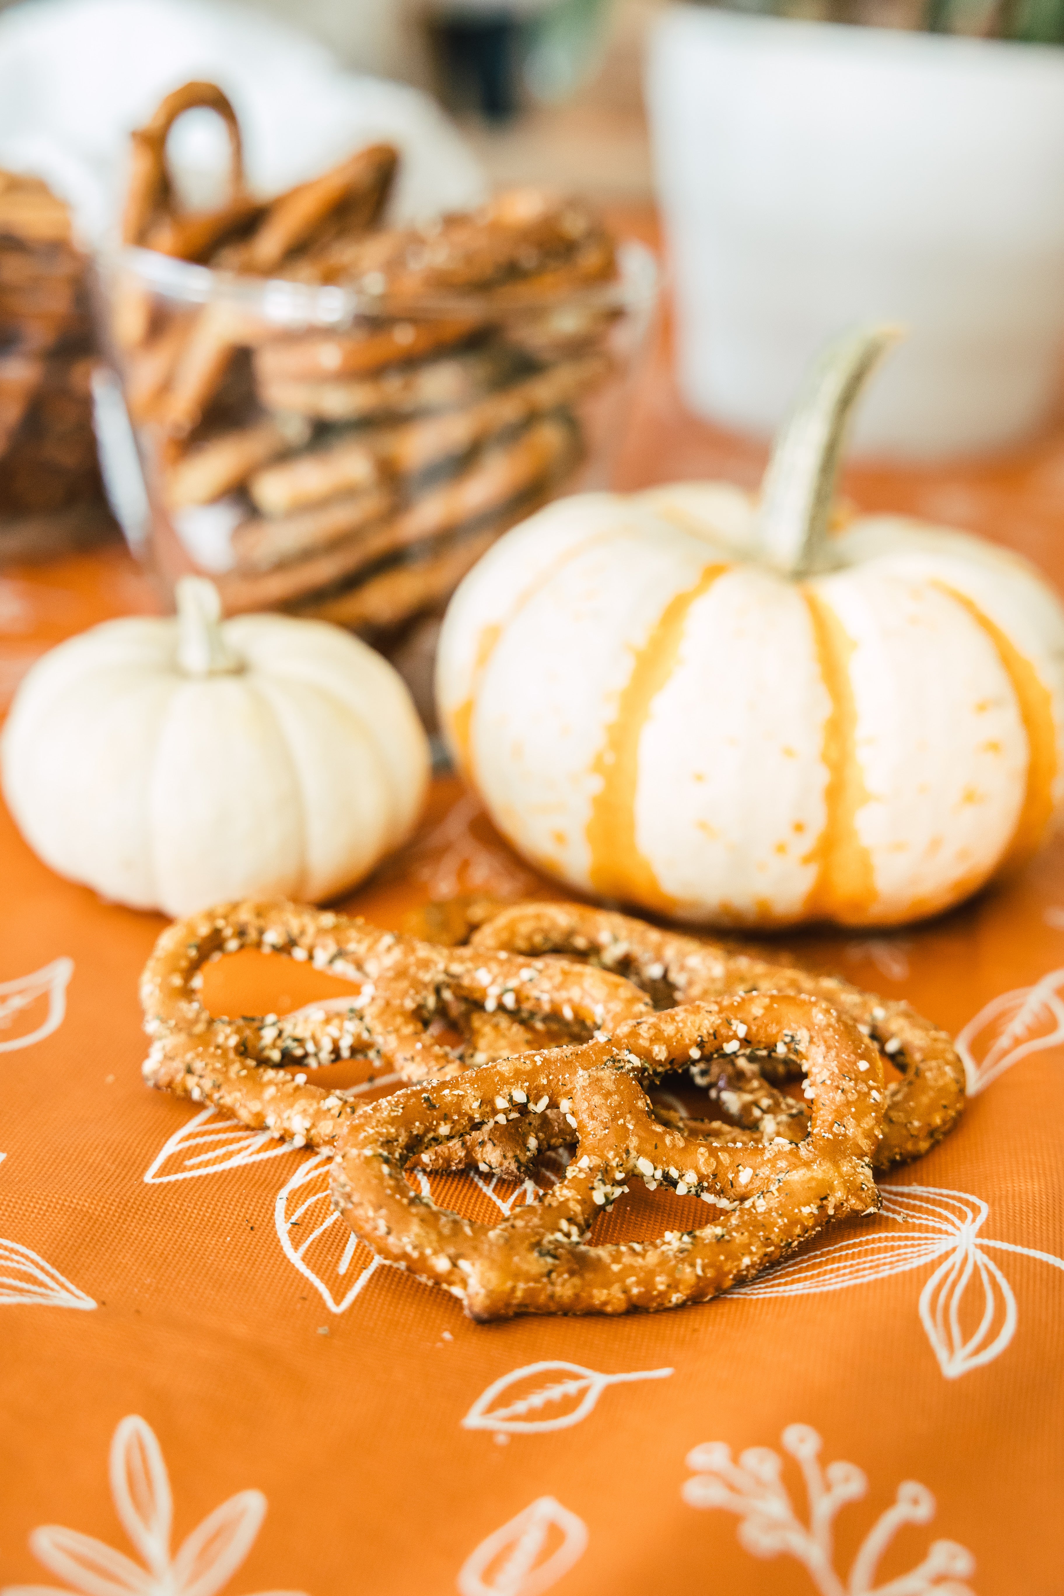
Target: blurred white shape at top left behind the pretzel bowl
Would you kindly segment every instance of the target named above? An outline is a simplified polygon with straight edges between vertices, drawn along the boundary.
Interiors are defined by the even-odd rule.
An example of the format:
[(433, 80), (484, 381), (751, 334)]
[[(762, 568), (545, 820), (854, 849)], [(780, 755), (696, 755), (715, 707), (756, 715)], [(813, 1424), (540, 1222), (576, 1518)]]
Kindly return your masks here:
[[(483, 196), (477, 161), (426, 94), (345, 72), (309, 35), (217, 0), (30, 0), (5, 11), (0, 164), (51, 182), (99, 239), (120, 206), (131, 128), (190, 78), (233, 101), (249, 182), (263, 195), (388, 139), (404, 153), (396, 220)], [(172, 161), (190, 190), (217, 168), (219, 134), (217, 118), (199, 113), (174, 129)]]

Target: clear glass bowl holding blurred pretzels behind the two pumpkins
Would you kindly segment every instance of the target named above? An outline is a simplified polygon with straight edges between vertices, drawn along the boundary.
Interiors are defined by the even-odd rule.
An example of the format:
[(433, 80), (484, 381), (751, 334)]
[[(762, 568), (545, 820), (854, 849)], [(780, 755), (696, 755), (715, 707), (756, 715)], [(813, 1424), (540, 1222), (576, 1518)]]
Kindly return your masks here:
[(608, 487), (652, 254), (577, 292), (372, 292), (124, 249), (102, 265), (97, 429), (129, 543), (225, 611), (357, 630), (424, 707), (434, 626), (507, 527)]

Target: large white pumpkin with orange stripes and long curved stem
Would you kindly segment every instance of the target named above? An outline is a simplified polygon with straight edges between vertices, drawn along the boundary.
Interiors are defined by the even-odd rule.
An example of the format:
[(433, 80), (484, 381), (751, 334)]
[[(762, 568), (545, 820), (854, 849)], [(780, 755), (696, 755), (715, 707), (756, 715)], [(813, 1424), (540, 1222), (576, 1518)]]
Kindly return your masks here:
[(458, 589), (442, 721), (542, 870), (688, 921), (889, 926), (1046, 833), (1064, 796), (1056, 595), (959, 531), (828, 531), (845, 417), (893, 337), (825, 351), (759, 500), (562, 500)]

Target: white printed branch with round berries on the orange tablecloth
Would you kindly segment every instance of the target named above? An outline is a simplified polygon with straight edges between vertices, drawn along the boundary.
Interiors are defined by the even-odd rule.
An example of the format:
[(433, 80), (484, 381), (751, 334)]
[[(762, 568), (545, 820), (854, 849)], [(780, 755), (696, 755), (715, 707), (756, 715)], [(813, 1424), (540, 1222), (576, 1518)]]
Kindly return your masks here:
[(962, 1585), (975, 1574), (975, 1558), (956, 1540), (933, 1540), (927, 1556), (908, 1574), (876, 1585), (882, 1555), (903, 1524), (928, 1524), (935, 1516), (935, 1497), (927, 1486), (904, 1479), (893, 1505), (879, 1515), (865, 1535), (849, 1575), (834, 1567), (834, 1519), (849, 1502), (860, 1502), (868, 1491), (868, 1478), (855, 1464), (836, 1462), (820, 1467), (820, 1435), (807, 1424), (791, 1424), (782, 1435), (783, 1451), (801, 1467), (809, 1502), (809, 1521), (802, 1523), (783, 1484), (783, 1459), (767, 1446), (750, 1446), (732, 1462), (732, 1449), (724, 1441), (708, 1441), (688, 1452), (686, 1479), (681, 1492), (688, 1507), (724, 1508), (740, 1519), (739, 1542), (755, 1558), (788, 1553), (809, 1574), (820, 1596), (973, 1596)]

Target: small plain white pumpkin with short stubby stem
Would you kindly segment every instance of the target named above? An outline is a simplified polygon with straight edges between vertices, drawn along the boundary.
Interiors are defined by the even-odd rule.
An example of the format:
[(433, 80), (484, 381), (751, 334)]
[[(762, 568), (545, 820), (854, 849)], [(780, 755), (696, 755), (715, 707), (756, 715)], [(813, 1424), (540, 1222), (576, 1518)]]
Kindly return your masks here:
[(407, 836), (428, 741), (380, 654), (321, 621), (219, 621), (183, 578), (177, 619), (121, 619), (61, 643), (16, 694), (3, 792), (64, 876), (134, 908), (319, 902)]

